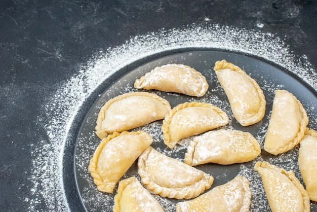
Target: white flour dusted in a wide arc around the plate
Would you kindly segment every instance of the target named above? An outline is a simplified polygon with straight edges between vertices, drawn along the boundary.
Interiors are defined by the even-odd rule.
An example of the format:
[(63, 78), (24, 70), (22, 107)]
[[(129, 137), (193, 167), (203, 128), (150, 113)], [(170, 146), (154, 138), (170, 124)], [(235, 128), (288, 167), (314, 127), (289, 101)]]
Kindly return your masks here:
[[(73, 119), (85, 99), (105, 79), (126, 65), (149, 55), (183, 48), (229, 50), (255, 55), (284, 67), (317, 90), (316, 72), (308, 58), (305, 55), (293, 55), (282, 39), (274, 34), (261, 33), (260, 30), (193, 24), (186, 29), (160, 31), (131, 38), (122, 46), (97, 53), (98, 56), (48, 99), (42, 113), (49, 114), (50, 122), (45, 124), (49, 140), (43, 140), (43, 145), (33, 147), (31, 152), (33, 168), (29, 180), (32, 194), (25, 199), (29, 210), (41, 210), (41, 204), (47, 205), (47, 210), (69, 210), (62, 177), (64, 147), (69, 142), (67, 135)], [(41, 118), (38, 121), (43, 123)], [(260, 143), (263, 142), (263, 137), (257, 139)], [(241, 171), (241, 174), (254, 180), (251, 179), (249, 170)], [(253, 187), (259, 185), (261, 182)]]

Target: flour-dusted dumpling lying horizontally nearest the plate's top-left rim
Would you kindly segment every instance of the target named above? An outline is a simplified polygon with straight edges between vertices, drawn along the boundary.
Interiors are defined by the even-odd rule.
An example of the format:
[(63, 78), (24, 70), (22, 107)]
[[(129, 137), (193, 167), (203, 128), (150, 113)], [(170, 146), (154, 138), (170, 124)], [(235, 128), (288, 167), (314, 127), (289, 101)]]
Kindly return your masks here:
[(194, 68), (183, 64), (167, 64), (146, 73), (135, 81), (134, 87), (203, 96), (209, 85), (206, 78)]

